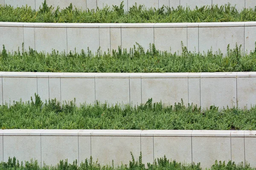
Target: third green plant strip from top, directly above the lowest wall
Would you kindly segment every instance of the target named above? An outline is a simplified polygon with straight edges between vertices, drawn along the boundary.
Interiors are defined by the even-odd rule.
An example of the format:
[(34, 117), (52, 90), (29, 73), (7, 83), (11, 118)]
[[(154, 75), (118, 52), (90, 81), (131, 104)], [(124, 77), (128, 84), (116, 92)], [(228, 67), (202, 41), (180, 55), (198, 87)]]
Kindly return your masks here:
[(143, 105), (107, 103), (61, 106), (54, 100), (15, 102), (0, 106), (2, 129), (139, 129), (139, 130), (256, 130), (256, 107), (202, 110), (194, 105), (163, 105), (148, 99)]

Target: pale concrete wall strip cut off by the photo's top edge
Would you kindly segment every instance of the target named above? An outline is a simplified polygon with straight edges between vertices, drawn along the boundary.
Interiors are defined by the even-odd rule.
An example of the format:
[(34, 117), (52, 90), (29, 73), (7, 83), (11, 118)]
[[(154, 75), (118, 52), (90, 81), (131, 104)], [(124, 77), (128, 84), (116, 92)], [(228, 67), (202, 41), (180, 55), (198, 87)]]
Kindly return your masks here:
[[(232, 6), (236, 5), (236, 8), (241, 10), (243, 8), (254, 8), (256, 6), (255, 0), (47, 0), (48, 5), (52, 5), (55, 9), (59, 6), (61, 9), (73, 4), (76, 8), (86, 10), (96, 9), (97, 7), (103, 8), (103, 6), (117, 5), (124, 1), (124, 9), (128, 11), (129, 8), (135, 3), (137, 5), (145, 5), (147, 8), (160, 8), (164, 6), (171, 6), (177, 8), (177, 6), (189, 6), (195, 8), (195, 6), (211, 6), (212, 4), (218, 4), (219, 6), (230, 3)], [(38, 10), (44, 0), (0, 0), (1, 5), (11, 6), (31, 6), (32, 9)]]

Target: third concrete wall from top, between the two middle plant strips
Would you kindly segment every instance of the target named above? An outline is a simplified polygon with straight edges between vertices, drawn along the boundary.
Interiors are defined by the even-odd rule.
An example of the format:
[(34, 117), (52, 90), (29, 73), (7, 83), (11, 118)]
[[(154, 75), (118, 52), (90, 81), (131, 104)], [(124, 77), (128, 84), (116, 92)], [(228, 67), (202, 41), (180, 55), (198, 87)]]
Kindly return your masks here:
[(209, 108), (256, 104), (256, 72), (234, 73), (24, 73), (0, 72), (0, 103), (56, 98), (76, 104), (153, 102)]

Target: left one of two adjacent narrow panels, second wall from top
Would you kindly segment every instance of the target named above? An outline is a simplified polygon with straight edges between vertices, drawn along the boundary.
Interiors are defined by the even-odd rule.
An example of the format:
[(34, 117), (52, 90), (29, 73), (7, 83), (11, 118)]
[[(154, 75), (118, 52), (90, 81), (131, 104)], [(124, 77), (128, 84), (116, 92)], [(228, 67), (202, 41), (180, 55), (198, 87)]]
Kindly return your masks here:
[(102, 53), (111, 52), (110, 28), (99, 28), (99, 46)]

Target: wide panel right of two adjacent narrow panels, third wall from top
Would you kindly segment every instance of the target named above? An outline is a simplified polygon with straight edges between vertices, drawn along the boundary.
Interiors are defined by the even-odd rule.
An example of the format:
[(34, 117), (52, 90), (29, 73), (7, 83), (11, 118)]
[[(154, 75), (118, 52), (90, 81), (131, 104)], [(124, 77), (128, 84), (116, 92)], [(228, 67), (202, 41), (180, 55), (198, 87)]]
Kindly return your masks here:
[(74, 98), (77, 106), (84, 102), (94, 103), (94, 78), (61, 78), (61, 100), (68, 102), (74, 101)]

